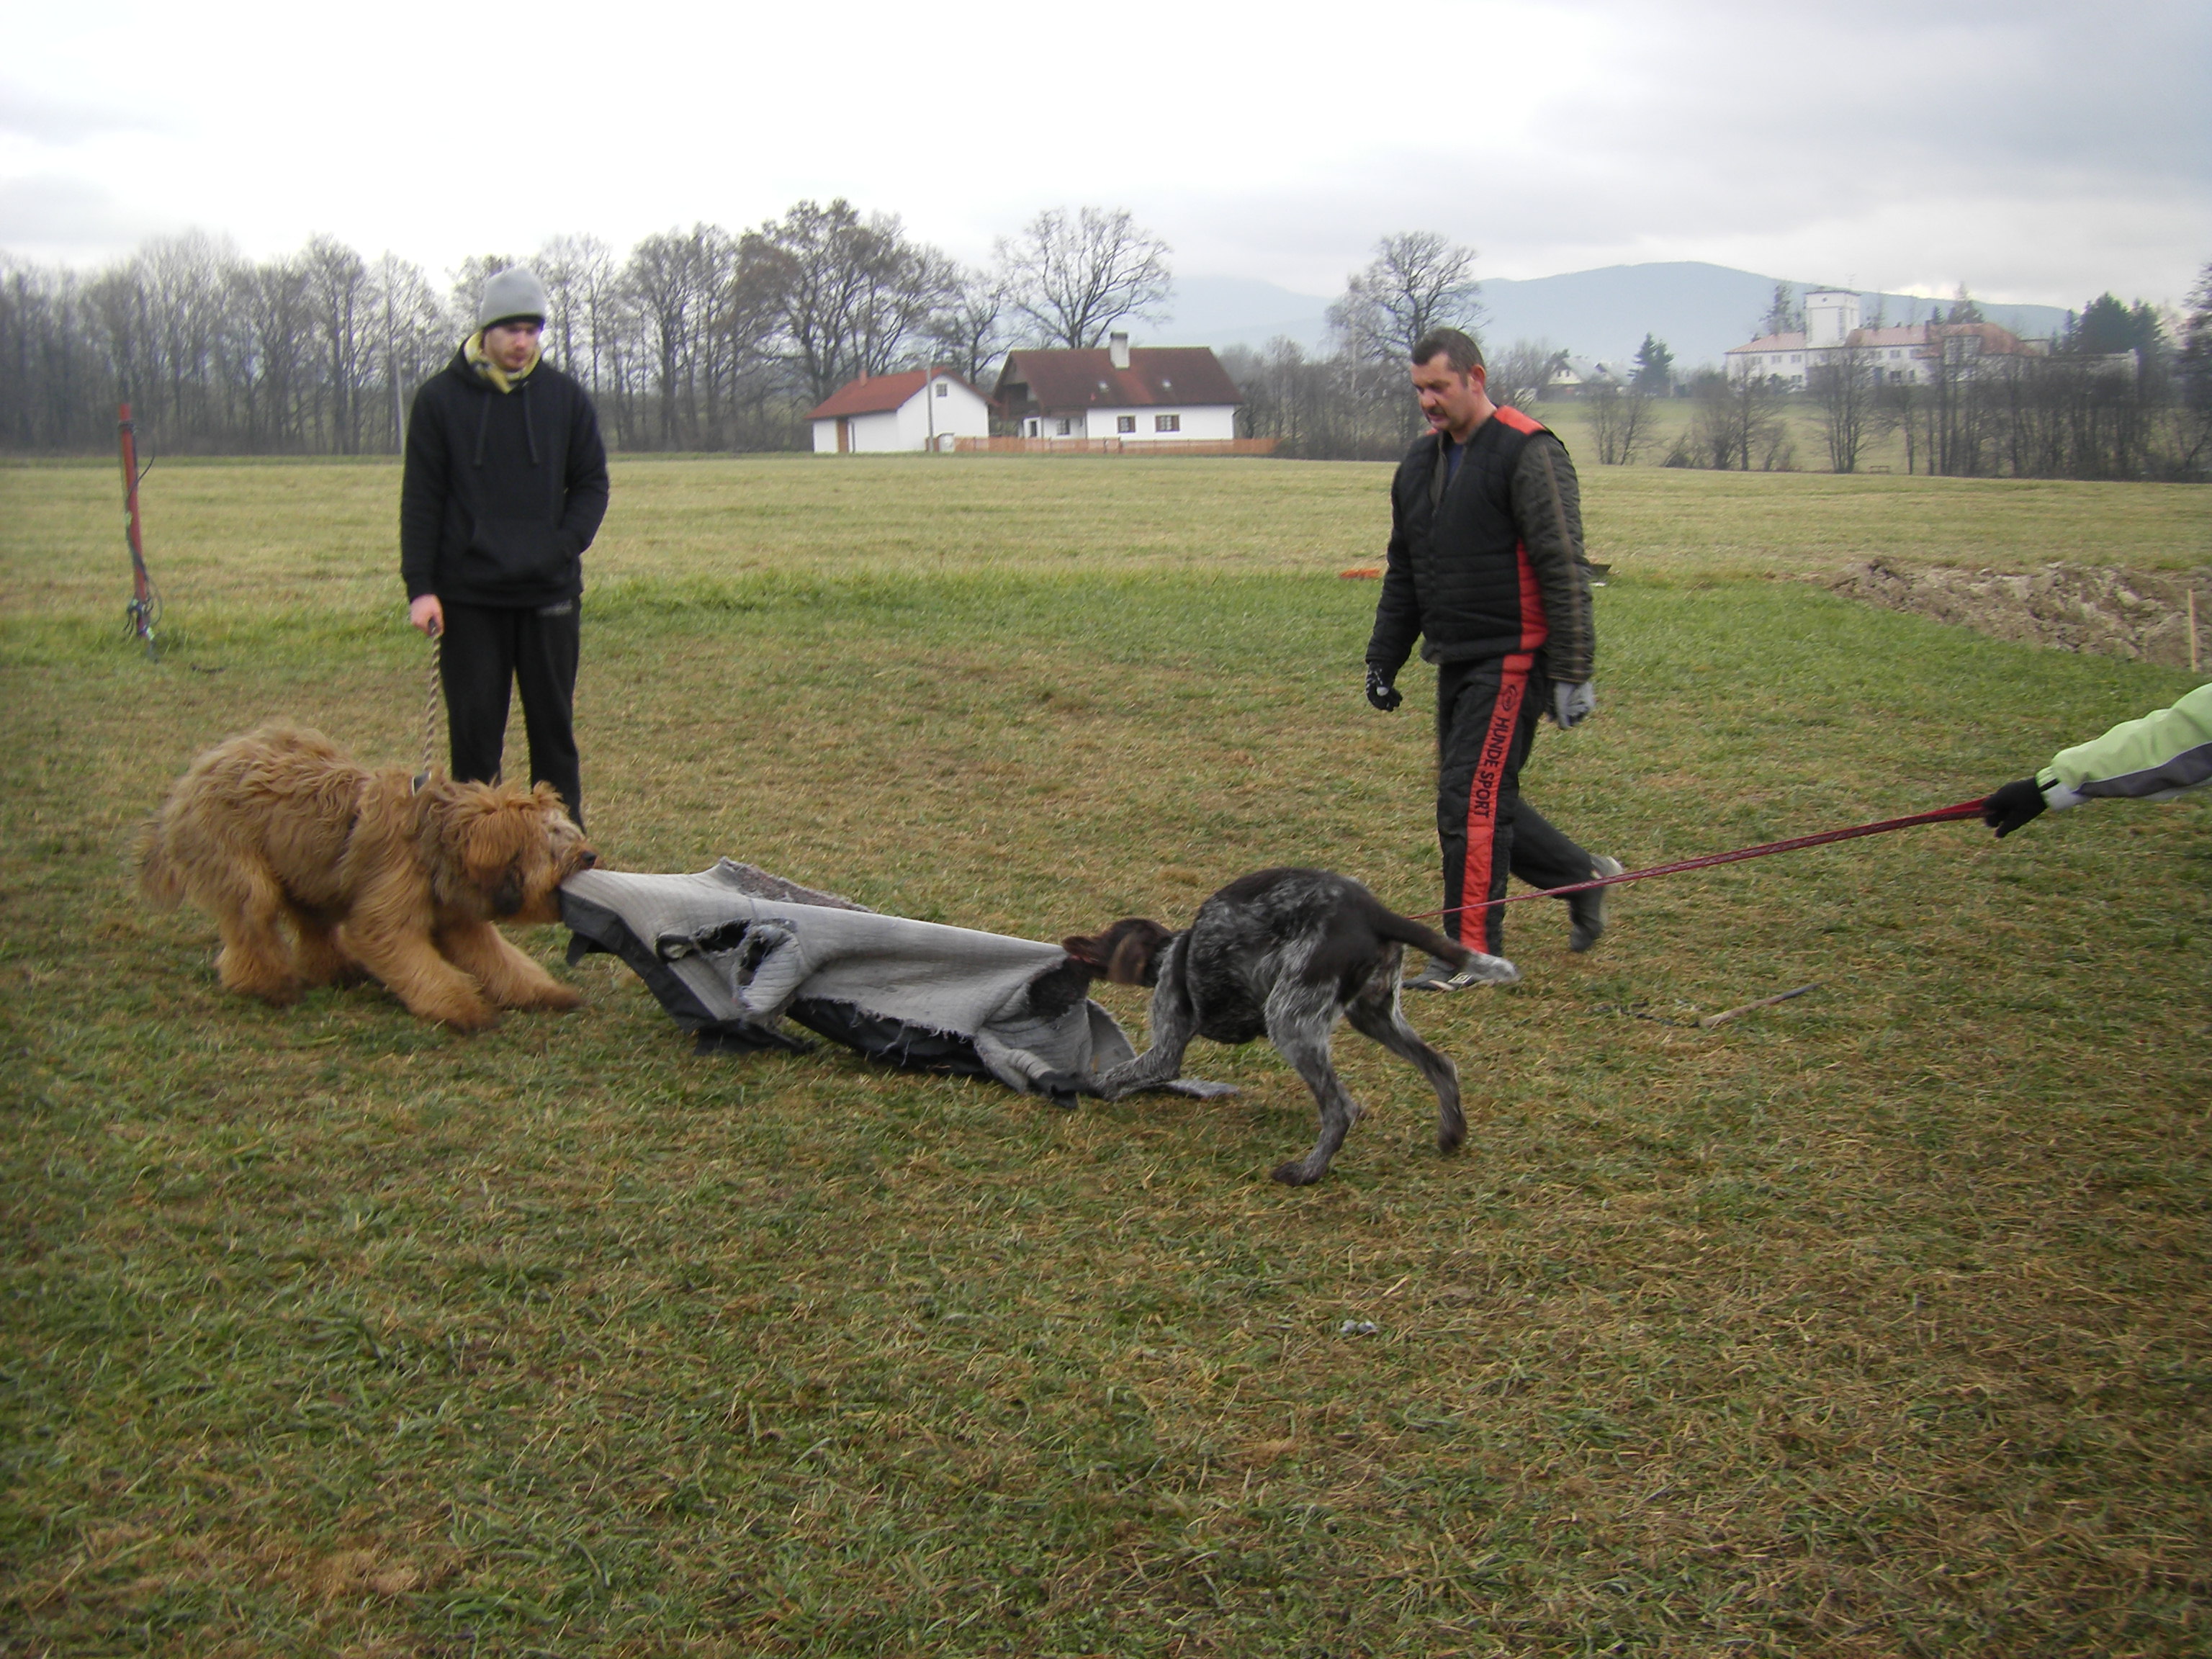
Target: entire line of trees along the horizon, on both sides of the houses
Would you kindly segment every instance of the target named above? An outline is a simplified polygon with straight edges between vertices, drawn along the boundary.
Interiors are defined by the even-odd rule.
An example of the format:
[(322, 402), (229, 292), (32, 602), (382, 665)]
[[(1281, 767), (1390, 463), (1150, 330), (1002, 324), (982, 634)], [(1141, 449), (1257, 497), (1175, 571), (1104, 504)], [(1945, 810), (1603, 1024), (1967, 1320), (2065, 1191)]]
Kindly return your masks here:
[[(77, 272), (0, 254), (0, 449), (100, 451), (115, 405), (168, 453), (392, 453), (414, 389), (473, 332), (482, 281), (529, 263), (546, 283), (546, 352), (599, 405), (617, 449), (807, 445), (805, 411), (860, 374), (936, 363), (989, 389), (1020, 345), (1095, 347), (1159, 321), (1170, 248), (1119, 208), (1046, 208), (984, 268), (916, 241), (896, 215), (799, 201), (754, 228), (697, 223), (626, 254), (555, 237), (480, 254), (434, 283), (334, 237), (243, 259), (186, 234)], [(1438, 232), (1383, 237), (1329, 307), (1327, 349), (1228, 347), (1239, 431), (1303, 458), (1394, 458), (1422, 422), (1411, 345), (1433, 327), (1484, 336), (1475, 250)], [(2110, 294), (2068, 316), (2048, 356), (1975, 356), (1960, 292), (1929, 327), (1931, 380), (1885, 378), (1871, 352), (1832, 352), (1803, 389), (1699, 372), (1683, 380), (1646, 334), (1632, 365), (1577, 387), (1599, 465), (1798, 467), (1812, 429), (1832, 471), (1902, 438), (1911, 471), (2020, 478), (2201, 478), (2212, 469), (2212, 265), (2174, 327)], [(1787, 285), (1761, 327), (1803, 327)], [(1491, 396), (1548, 396), (1566, 354), (1489, 349)], [(1690, 418), (1661, 422), (1686, 396)]]

